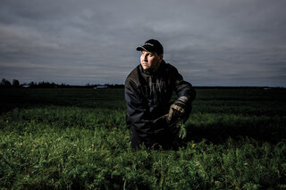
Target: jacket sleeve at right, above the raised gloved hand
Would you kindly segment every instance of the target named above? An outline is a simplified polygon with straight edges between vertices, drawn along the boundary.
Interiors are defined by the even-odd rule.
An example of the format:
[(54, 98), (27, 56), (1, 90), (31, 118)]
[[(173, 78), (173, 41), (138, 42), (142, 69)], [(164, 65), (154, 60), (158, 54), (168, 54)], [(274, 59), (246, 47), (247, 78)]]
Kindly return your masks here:
[[(196, 91), (189, 82), (183, 80), (181, 74), (174, 68), (174, 91), (178, 95), (178, 99), (187, 104), (191, 104), (195, 97)], [(184, 98), (182, 98), (184, 97)], [(186, 98), (185, 98), (186, 97)]]

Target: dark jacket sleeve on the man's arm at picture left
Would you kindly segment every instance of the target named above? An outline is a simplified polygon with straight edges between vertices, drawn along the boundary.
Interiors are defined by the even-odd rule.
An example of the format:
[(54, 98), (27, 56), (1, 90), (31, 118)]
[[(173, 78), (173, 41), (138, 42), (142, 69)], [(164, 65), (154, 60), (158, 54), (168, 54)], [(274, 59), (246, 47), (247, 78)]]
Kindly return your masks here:
[(147, 105), (145, 105), (144, 98), (139, 93), (139, 88), (130, 79), (127, 79), (125, 82), (125, 102), (127, 107), (127, 127), (135, 128), (141, 137), (150, 134), (152, 123), (150, 120), (147, 120)]

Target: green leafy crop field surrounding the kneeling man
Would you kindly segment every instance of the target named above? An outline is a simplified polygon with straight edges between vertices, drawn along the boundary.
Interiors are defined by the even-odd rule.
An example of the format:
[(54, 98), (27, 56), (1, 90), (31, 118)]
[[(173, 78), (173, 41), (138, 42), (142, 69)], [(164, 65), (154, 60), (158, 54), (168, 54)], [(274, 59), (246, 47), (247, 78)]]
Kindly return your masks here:
[(133, 152), (123, 89), (0, 89), (1, 189), (286, 189), (286, 89), (197, 89), (179, 151)]

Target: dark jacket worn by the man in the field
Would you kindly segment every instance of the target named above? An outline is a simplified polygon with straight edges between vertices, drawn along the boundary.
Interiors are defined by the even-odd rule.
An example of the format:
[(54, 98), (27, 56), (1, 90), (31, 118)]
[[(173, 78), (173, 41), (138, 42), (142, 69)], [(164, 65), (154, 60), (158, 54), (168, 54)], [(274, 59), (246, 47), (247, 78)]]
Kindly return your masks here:
[(189, 105), (195, 98), (193, 87), (183, 80), (171, 64), (161, 62), (155, 73), (143, 70), (141, 65), (137, 66), (125, 81), (127, 127), (142, 139), (152, 135), (152, 121), (169, 112), (172, 92), (178, 97), (189, 97)]

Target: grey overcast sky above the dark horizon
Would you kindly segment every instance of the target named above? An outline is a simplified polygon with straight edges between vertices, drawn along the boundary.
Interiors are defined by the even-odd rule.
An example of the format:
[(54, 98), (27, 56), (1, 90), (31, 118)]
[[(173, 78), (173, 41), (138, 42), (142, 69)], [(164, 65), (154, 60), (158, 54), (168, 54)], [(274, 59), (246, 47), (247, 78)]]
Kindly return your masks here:
[(193, 86), (286, 87), (285, 0), (2, 0), (0, 78), (123, 84), (136, 46)]

